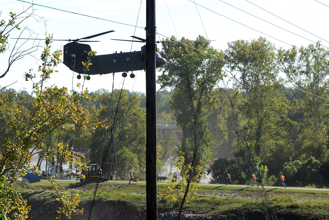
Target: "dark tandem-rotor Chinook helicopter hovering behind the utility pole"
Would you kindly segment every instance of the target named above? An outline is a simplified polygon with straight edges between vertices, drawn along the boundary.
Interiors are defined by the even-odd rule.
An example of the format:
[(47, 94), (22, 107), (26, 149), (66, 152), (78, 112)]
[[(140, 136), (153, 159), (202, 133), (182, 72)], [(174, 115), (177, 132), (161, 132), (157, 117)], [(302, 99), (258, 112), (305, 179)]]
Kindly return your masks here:
[[(92, 65), (89, 66), (89, 71), (84, 70), (84, 65), (82, 62), (87, 61), (88, 52), (91, 51), (91, 47), (88, 44), (81, 44), (78, 42), (94, 42), (94, 41), (84, 41), (85, 39), (90, 39), (93, 37), (97, 37), (103, 34), (107, 34), (113, 31), (107, 31), (100, 34), (92, 35), (89, 37), (76, 39), (76, 40), (68, 40), (72, 41), (66, 45), (64, 45), (63, 50), (63, 64), (67, 66), (70, 70), (78, 73), (78, 79), (81, 79), (81, 74), (88, 75), (87, 80), (90, 79), (89, 75), (96, 74), (109, 74), (109, 73), (117, 73), (123, 72), (122, 76), (127, 77), (128, 71), (135, 70), (144, 70), (145, 67), (145, 46), (141, 47), (140, 51), (133, 52), (120, 52), (113, 54), (105, 54), (105, 55), (94, 55), (90, 56), (90, 63)], [(132, 36), (133, 38), (138, 39), (139, 41), (133, 40), (122, 40), (122, 41), (133, 41), (133, 42), (145, 42), (144, 39)], [(116, 40), (116, 39), (112, 39)], [(156, 67), (163, 66), (166, 63), (166, 59), (162, 58), (161, 55), (156, 51)], [(131, 78), (135, 77), (135, 74), (130, 74)]]

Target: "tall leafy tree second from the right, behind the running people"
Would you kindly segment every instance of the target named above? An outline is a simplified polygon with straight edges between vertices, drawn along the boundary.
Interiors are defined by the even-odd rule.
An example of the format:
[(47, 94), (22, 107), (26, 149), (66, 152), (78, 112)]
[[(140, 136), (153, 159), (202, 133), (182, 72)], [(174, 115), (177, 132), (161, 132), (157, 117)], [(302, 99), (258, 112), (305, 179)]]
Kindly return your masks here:
[(251, 42), (229, 43), (225, 51), (226, 70), (235, 79), (234, 89), (243, 95), (238, 111), (246, 117), (240, 124), (244, 137), (250, 149), (273, 173), (280, 171), (292, 154), (285, 128), (290, 125), (287, 117), (290, 102), (279, 93), (282, 79), (277, 77), (275, 51), (262, 37)]

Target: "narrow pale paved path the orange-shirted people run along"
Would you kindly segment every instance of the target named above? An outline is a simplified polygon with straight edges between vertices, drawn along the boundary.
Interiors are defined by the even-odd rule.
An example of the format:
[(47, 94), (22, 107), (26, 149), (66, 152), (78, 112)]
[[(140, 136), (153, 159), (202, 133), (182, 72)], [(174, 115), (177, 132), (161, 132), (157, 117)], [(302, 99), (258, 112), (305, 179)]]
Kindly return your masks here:
[[(58, 180), (58, 181), (71, 181), (71, 182), (79, 182), (79, 181), (75, 181), (75, 180)], [(105, 183), (129, 183), (127, 181), (120, 181), (120, 180), (109, 180)], [(138, 181), (138, 183), (136, 182), (131, 182), (131, 184), (139, 184), (139, 183), (143, 183), (145, 184), (145, 181)], [(158, 181), (158, 184), (165, 184), (166, 182), (160, 182)], [(200, 183), (199, 185), (201, 186), (213, 186), (213, 187), (238, 187), (240, 189), (243, 188), (256, 188), (257, 186), (247, 186), (247, 185), (225, 185), (225, 184), (211, 184), (211, 183)], [(260, 186), (259, 186), (260, 187)], [(278, 187), (278, 186), (264, 186), (265, 189), (281, 189), (281, 190), (309, 190), (309, 191), (325, 191), (325, 192), (329, 192), (329, 189), (324, 189), (324, 188), (307, 188), (307, 187)]]

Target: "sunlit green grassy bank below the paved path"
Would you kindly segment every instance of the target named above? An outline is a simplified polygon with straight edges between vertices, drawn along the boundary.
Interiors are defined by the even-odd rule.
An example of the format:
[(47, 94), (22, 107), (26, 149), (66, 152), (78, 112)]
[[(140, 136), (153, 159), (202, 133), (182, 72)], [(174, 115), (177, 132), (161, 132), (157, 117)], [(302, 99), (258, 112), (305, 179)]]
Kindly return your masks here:
[[(95, 193), (95, 184), (72, 187), (72, 182), (60, 182), (61, 187), (78, 192), (81, 197), (80, 207), (85, 214), (72, 219), (87, 219)], [(158, 192), (163, 185), (159, 185)], [(51, 184), (41, 181), (32, 184), (22, 184), (24, 197), (31, 205), (30, 219), (43, 219), (57, 216), (55, 194)], [(92, 219), (129, 219), (146, 209), (145, 184), (130, 184), (105, 182), (100, 183), (96, 200), (92, 208)], [(329, 219), (329, 194), (327, 192), (266, 189), (268, 200), (262, 195), (265, 191), (258, 188), (214, 187), (201, 186), (199, 195), (186, 203), (184, 210), (206, 216), (225, 216), (228, 219), (266, 219), (266, 213), (275, 211), (278, 219)], [(219, 196), (225, 195), (224, 196)], [(158, 196), (158, 212), (177, 211), (178, 207), (170, 199)]]

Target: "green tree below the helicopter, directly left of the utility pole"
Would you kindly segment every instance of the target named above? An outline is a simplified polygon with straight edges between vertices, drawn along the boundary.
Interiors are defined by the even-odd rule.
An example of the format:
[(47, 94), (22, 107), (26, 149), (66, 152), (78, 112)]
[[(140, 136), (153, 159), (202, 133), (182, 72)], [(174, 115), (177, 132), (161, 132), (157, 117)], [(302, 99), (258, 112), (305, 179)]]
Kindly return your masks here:
[[(146, 117), (145, 108), (140, 107), (139, 95), (131, 93), (128, 96), (126, 90), (114, 90), (113, 94), (101, 94), (99, 99), (100, 105), (98, 109), (93, 110), (92, 120), (99, 120), (102, 126), (96, 128), (92, 134), (88, 150), (90, 162), (104, 162), (105, 157), (105, 162), (112, 163), (106, 166), (107, 175), (121, 178), (132, 170), (129, 173), (121, 173), (122, 170), (127, 170), (126, 164), (130, 161), (125, 161), (119, 156), (134, 156), (138, 161), (134, 174), (144, 179)], [(120, 173), (117, 172), (119, 170)]]

